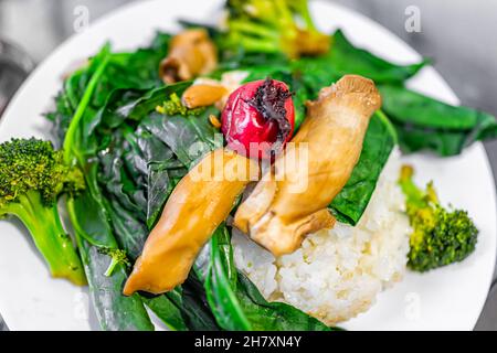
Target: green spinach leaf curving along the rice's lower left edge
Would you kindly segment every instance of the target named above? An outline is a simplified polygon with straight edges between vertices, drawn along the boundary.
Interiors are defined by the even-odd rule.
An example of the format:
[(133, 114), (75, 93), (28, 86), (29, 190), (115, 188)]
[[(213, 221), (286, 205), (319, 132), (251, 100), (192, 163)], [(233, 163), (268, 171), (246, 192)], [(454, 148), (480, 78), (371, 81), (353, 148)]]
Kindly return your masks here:
[(332, 331), (319, 320), (283, 302), (267, 302), (233, 261), (231, 237), (221, 225), (212, 236), (208, 264), (195, 263), (204, 276), (207, 298), (224, 330)]

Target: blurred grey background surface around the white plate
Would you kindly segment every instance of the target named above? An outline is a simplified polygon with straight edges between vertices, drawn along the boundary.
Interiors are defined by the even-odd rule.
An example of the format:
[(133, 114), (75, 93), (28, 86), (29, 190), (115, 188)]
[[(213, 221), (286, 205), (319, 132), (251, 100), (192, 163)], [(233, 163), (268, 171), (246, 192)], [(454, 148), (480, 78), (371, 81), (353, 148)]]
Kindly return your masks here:
[[(25, 73), (74, 33), (74, 19), (82, 9), (88, 10), (92, 22), (130, 1), (0, 0), (0, 116)], [(351, 8), (387, 26), (423, 56), (434, 60), (435, 68), (464, 105), (497, 116), (496, 0), (329, 1)], [(409, 33), (405, 30), (405, 11), (412, 6), (420, 10), (421, 32)], [(494, 175), (497, 175), (497, 141), (485, 147)], [(476, 330), (497, 330), (496, 286)]]

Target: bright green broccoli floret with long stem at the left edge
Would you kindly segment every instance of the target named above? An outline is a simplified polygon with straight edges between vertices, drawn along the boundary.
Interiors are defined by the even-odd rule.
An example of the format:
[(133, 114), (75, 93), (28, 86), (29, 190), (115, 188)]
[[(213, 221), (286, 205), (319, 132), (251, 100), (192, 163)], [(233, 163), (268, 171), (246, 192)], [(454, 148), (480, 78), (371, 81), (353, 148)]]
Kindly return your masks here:
[(52, 143), (34, 138), (0, 145), (0, 216), (18, 217), (29, 229), (53, 277), (85, 285), (86, 278), (57, 210), (62, 193), (84, 188), (80, 170), (67, 168)]

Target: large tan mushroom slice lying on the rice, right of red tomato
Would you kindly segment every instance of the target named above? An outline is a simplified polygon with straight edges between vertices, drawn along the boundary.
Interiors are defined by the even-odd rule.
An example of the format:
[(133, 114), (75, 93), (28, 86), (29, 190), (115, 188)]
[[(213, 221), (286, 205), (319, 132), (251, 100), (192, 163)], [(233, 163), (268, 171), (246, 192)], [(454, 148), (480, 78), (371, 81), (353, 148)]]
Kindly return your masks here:
[(360, 76), (321, 89), (307, 104), (307, 119), (285, 152), (240, 205), (234, 225), (275, 256), (295, 252), (310, 233), (331, 228), (327, 206), (349, 180), (380, 106), (374, 83)]

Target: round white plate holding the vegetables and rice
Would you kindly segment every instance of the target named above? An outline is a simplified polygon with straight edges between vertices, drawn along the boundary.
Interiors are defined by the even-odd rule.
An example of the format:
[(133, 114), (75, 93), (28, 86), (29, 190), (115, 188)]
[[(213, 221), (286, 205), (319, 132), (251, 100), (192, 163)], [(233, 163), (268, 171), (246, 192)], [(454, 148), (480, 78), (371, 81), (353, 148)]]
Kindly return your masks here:
[[(157, 29), (175, 31), (178, 18), (205, 21), (222, 1), (139, 1), (95, 22), (61, 45), (30, 76), (2, 118), (0, 140), (49, 138), (42, 114), (61, 87), (64, 71), (94, 54), (106, 41), (116, 50), (145, 45)], [(313, 2), (318, 26), (339, 26), (358, 45), (399, 63), (420, 60), (406, 44), (371, 20), (328, 2)], [(452, 104), (458, 100), (442, 77), (425, 68), (412, 87)], [(367, 313), (343, 324), (351, 330), (472, 330), (485, 302), (496, 258), (495, 185), (485, 150), (476, 143), (462, 156), (410, 157), (420, 182), (435, 180), (443, 201), (469, 211), (480, 229), (476, 252), (464, 263), (408, 274), (384, 291)], [(0, 312), (11, 330), (88, 330), (98, 328), (86, 291), (51, 279), (27, 232), (0, 222)]]

